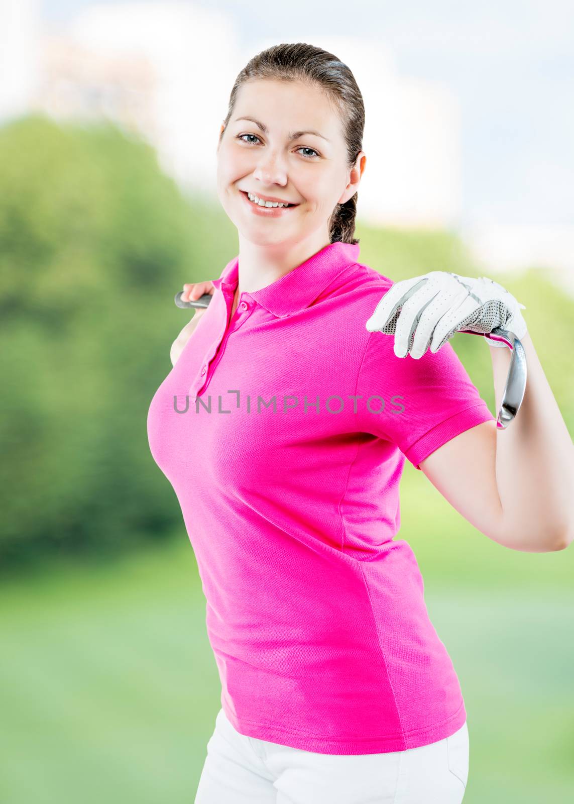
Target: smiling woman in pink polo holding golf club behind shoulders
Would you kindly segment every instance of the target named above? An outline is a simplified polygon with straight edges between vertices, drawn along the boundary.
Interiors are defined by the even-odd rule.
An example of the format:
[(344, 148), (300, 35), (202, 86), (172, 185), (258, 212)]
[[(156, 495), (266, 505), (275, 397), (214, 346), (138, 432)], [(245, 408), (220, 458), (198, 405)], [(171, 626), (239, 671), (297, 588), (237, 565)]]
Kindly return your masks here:
[[(400, 283), (358, 262), (363, 125), (351, 71), (318, 47), (270, 47), (240, 72), (217, 150), (239, 256), (184, 286), (213, 297), (150, 405), (222, 684), (196, 804), (462, 801), (461, 689), (393, 538), (405, 457), (499, 544), (572, 538), (572, 442), (518, 302), (477, 288), (481, 310), (502, 293), (527, 349), (523, 409), (498, 436), (449, 332), (429, 338), (426, 311), (448, 319), (473, 280), (449, 275), (457, 289), (427, 304), (445, 277), (425, 275), (397, 320), (381, 301)], [(508, 362), (493, 349), (498, 403)]]

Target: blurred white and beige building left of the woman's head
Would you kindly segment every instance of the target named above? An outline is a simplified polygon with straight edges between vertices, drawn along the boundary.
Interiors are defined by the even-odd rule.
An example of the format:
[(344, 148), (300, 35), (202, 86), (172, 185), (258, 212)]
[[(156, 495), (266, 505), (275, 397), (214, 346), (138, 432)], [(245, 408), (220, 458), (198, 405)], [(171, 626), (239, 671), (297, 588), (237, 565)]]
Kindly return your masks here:
[(78, 108), (66, 114), (93, 105), (98, 92), (109, 99), (102, 113), (119, 125), (133, 125), (137, 110), (137, 129), (164, 170), (215, 196), (217, 137), (239, 63), (231, 19), (188, 2), (95, 5), (76, 14), (63, 38), (85, 55)]

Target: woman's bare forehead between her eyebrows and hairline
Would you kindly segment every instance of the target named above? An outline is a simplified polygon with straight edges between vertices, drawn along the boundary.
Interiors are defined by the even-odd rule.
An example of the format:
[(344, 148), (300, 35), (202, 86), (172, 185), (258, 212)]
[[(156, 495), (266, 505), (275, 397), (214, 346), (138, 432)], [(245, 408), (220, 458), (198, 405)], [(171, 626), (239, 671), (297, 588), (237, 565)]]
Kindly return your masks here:
[(261, 121), (275, 133), (314, 129), (329, 139), (342, 135), (341, 119), (326, 92), (301, 81), (265, 79), (243, 84), (231, 119), (244, 116)]

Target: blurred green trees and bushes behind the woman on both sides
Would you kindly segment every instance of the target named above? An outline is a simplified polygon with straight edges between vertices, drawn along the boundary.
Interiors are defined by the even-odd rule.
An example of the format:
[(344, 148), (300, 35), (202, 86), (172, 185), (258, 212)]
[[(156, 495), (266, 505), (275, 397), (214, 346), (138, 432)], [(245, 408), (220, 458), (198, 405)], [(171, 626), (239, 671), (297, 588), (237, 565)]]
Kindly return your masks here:
[[(398, 281), (430, 270), (478, 276), (449, 232), (359, 225), (359, 259)], [(150, 400), (187, 322), (183, 282), (219, 277), (236, 229), (218, 205), (186, 195), (154, 149), (109, 123), (42, 115), (0, 129), (0, 567), (47, 553), (115, 555), (181, 526), (150, 456)], [(525, 317), (572, 430), (572, 299), (542, 269), (496, 277)], [(191, 318), (191, 315), (189, 316)], [(453, 347), (494, 412), (490, 350)]]

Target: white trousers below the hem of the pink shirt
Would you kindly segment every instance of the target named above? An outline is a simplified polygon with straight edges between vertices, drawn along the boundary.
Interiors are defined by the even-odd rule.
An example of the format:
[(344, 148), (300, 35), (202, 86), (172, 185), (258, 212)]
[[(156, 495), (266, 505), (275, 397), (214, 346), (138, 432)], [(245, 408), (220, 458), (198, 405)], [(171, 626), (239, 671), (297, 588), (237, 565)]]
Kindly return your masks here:
[(245, 736), (220, 709), (195, 804), (461, 804), (468, 773), (466, 723), (420, 748), (338, 755)]

